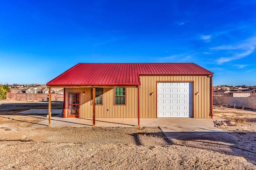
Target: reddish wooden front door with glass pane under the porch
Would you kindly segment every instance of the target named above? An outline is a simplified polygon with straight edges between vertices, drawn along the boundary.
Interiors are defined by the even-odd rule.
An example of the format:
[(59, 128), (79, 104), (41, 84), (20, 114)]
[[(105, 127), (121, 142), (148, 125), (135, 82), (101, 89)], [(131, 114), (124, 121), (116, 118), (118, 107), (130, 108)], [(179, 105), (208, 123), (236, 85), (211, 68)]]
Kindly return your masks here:
[(68, 117), (79, 117), (80, 93), (68, 93)]

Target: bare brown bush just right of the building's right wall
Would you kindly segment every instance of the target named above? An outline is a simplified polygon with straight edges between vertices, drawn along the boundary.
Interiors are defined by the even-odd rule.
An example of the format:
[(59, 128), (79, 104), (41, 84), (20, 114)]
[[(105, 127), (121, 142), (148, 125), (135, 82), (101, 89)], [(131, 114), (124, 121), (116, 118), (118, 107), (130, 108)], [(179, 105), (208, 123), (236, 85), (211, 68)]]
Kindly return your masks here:
[(224, 93), (220, 91), (214, 92), (213, 105), (218, 107), (227, 106), (231, 101), (230, 93)]

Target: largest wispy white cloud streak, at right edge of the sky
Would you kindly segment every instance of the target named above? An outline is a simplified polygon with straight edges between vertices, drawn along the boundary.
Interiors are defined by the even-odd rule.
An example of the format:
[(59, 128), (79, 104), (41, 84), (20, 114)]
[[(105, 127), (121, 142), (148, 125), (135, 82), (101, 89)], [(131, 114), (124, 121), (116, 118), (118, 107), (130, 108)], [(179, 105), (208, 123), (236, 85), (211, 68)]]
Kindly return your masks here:
[(218, 64), (226, 63), (236, 59), (246, 57), (254, 52), (256, 48), (256, 37), (249, 38), (241, 43), (234, 45), (220, 45), (218, 47), (212, 47), (212, 50), (226, 50), (226, 52), (232, 54), (228, 57), (220, 57), (216, 61)]

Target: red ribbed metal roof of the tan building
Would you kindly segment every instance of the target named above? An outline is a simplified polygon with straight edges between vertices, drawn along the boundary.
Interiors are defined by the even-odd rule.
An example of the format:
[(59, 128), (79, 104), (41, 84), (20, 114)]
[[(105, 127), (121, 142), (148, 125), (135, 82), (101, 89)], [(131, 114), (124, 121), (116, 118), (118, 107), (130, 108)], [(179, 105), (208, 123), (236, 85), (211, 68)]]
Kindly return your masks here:
[(78, 63), (48, 86), (140, 85), (139, 75), (213, 75), (195, 63)]

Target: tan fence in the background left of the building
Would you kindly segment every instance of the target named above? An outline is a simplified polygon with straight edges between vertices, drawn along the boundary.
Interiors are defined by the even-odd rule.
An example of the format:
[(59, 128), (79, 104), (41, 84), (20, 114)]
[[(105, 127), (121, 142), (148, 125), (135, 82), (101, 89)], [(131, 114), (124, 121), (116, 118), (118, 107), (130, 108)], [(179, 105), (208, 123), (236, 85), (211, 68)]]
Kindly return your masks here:
[[(52, 101), (63, 101), (63, 94), (52, 93)], [(42, 93), (7, 93), (6, 100), (14, 101), (46, 101), (48, 94)]]

